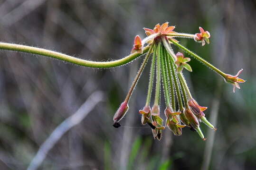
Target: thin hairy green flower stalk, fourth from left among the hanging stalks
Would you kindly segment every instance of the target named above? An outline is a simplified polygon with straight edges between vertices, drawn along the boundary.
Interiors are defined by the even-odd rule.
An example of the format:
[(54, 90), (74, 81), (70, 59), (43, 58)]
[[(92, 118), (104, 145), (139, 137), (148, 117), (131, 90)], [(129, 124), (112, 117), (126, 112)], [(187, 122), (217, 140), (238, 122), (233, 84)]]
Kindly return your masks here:
[[(168, 90), (168, 82), (166, 79), (166, 67), (164, 66), (165, 58), (167, 56), (165, 55), (164, 47), (161, 45), (161, 70), (162, 70), (162, 78), (163, 78), (163, 88), (164, 88), (164, 94), (165, 94), (165, 100), (166, 100), (166, 106), (168, 108), (171, 108), (171, 102), (169, 99), (169, 90)], [(175, 108), (174, 108), (175, 109)]]

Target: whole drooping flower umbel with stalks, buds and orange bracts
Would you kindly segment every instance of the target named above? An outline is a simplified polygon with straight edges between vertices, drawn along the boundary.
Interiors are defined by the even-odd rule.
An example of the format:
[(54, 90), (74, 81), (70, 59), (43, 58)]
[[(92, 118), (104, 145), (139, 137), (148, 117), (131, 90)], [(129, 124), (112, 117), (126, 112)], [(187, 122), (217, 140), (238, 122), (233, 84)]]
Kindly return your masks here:
[[(191, 38), (196, 42), (205, 45), (209, 44), (210, 33), (204, 31), (199, 27), (200, 33), (184, 34), (173, 31), (175, 26), (169, 26), (168, 22), (160, 25), (157, 24), (153, 29), (144, 28), (147, 37), (141, 39), (139, 35), (135, 36), (133, 49), (131, 53), (139, 53), (141, 55), (146, 53), (146, 56), (139, 68), (138, 74), (135, 76), (133, 84), (119, 109), (114, 115), (114, 127), (120, 127), (119, 121), (124, 117), (129, 109), (129, 99), (133, 93), (135, 85), (137, 84), (142, 71), (151, 58), (151, 69), (149, 76), (149, 86), (145, 106), (139, 113), (142, 115), (142, 125), (148, 124), (152, 128), (153, 137), (158, 140), (162, 137), (162, 130), (168, 127), (174, 135), (180, 136), (182, 128), (189, 127), (196, 131), (199, 136), (205, 140), (205, 137), (200, 129), (200, 123), (203, 122), (209, 128), (216, 130), (216, 128), (206, 119), (204, 111), (207, 107), (200, 106), (192, 97), (186, 80), (182, 74), (185, 68), (192, 72), (192, 68), (188, 64), (190, 58), (184, 57), (184, 54), (178, 52), (174, 53), (172, 45), (177, 46), (182, 51), (199, 60), (205, 66), (213, 69), (220, 76), (222, 76), (227, 83), (234, 85), (235, 88), (240, 88), (238, 83), (244, 83), (245, 80), (239, 78), (239, 74), (243, 69), (238, 71), (236, 76), (226, 74), (218, 68), (211, 65), (208, 61), (202, 59), (197, 54), (193, 53), (174, 38)], [(154, 77), (156, 76), (156, 77)], [(153, 89), (153, 87), (155, 87)], [(165, 98), (165, 110), (160, 110), (160, 91), (163, 89)], [(152, 95), (153, 93), (153, 95)], [(153, 98), (153, 105), (151, 99)], [(161, 112), (165, 116), (164, 120)]]

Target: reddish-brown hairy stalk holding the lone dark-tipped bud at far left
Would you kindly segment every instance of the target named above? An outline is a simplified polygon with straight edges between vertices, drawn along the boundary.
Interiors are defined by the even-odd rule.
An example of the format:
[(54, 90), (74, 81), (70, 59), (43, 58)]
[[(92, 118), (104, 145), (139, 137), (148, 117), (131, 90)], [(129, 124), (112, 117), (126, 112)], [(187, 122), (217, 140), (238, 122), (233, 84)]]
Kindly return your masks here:
[(129, 92), (128, 92), (126, 98), (125, 98), (125, 101), (126, 101), (126, 102), (129, 102), (129, 99), (130, 99), (130, 97), (131, 97), (131, 95), (132, 95), (132, 93), (133, 93), (133, 89), (134, 89), (135, 85), (137, 84), (137, 82), (138, 82), (138, 80), (139, 80), (139, 78), (140, 78), (140, 76), (141, 76), (141, 74), (142, 74), (142, 71), (143, 71), (143, 69), (144, 69), (144, 67), (145, 67), (145, 65), (146, 65), (146, 63), (147, 63), (147, 61), (148, 61), (148, 59), (149, 59), (149, 56), (150, 56), (150, 54), (151, 54), (151, 51), (152, 51), (153, 46), (154, 46), (154, 42), (153, 42), (152, 45), (150, 46), (150, 49), (149, 49), (149, 51), (148, 51), (148, 53), (147, 53), (147, 55), (146, 55), (146, 57), (145, 57), (145, 59), (144, 59), (142, 65), (141, 65), (141, 68), (139, 69), (139, 71), (138, 71), (136, 77), (135, 77), (134, 80), (133, 80), (133, 85), (130, 87), (130, 90), (129, 90)]

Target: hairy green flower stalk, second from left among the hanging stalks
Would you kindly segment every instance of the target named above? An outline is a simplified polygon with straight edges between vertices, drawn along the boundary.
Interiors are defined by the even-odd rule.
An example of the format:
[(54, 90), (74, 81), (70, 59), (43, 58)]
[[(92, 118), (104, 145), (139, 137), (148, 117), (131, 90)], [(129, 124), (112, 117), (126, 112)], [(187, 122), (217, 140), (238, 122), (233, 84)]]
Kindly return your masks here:
[(148, 95), (146, 100), (146, 106), (150, 105), (150, 99), (151, 99), (151, 93), (152, 93), (152, 86), (153, 86), (153, 80), (154, 80), (154, 71), (155, 71), (155, 58), (156, 58), (156, 46), (154, 45), (154, 53), (151, 63), (151, 69), (150, 69), (150, 77), (149, 77), (149, 87), (148, 87)]

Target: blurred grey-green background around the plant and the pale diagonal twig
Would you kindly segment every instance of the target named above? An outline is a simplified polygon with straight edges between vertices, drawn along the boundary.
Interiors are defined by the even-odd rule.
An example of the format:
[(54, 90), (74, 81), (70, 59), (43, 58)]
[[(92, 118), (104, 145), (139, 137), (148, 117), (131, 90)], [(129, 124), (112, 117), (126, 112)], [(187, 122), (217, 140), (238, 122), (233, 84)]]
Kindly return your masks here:
[[(53, 130), (95, 91), (104, 100), (47, 153), (42, 170), (252, 170), (256, 169), (256, 0), (0, 0), (0, 41), (107, 61), (128, 55), (143, 27), (170, 22), (175, 31), (211, 33), (210, 44), (179, 39), (222, 71), (244, 68), (241, 90), (191, 59), (185, 76), (213, 132), (164, 130), (154, 140), (138, 110), (146, 100), (149, 64), (130, 110), (112, 126), (142, 59), (93, 69), (56, 59), (0, 51), (0, 170), (25, 170)], [(178, 49), (175, 48), (178, 52)], [(162, 102), (163, 103), (163, 102)], [(162, 112), (164, 106), (162, 104)], [(163, 115), (162, 115), (163, 117)]]

